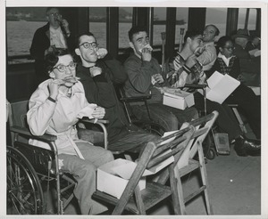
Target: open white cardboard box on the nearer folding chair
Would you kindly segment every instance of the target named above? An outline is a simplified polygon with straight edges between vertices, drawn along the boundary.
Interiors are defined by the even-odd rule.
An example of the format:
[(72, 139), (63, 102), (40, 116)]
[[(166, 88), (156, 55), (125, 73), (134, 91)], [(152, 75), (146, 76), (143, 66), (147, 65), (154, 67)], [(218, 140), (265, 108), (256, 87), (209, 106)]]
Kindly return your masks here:
[[(156, 174), (158, 171), (168, 166), (174, 158), (168, 158), (154, 168), (146, 170), (138, 183), (139, 189), (146, 188), (146, 176)], [(129, 183), (130, 177), (137, 164), (130, 160), (118, 158), (103, 166), (99, 166), (96, 171), (96, 190), (104, 191), (107, 194), (121, 198), (121, 194)]]

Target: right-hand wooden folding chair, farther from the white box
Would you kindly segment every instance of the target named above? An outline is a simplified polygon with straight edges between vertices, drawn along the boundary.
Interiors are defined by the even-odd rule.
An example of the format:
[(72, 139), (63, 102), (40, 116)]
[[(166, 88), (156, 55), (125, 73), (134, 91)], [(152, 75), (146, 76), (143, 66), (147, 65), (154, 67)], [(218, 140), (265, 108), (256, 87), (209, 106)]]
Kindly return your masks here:
[[(185, 148), (180, 157), (175, 159), (175, 177), (178, 183), (178, 191), (179, 191), (179, 199), (180, 199), (180, 213), (181, 215), (186, 215), (185, 204), (197, 197), (201, 192), (205, 193), (205, 205), (208, 215), (213, 215), (213, 209), (209, 202), (208, 198), (208, 182), (207, 182), (207, 174), (205, 169), (205, 159), (204, 152), (202, 148), (202, 142), (204, 142), (206, 135), (210, 132), (212, 126), (214, 126), (214, 122), (218, 117), (219, 113), (217, 111), (212, 112), (211, 114), (198, 118), (189, 123), (185, 123), (182, 127), (185, 126), (194, 126), (195, 133), (193, 134), (193, 138), (190, 142), (188, 142), (188, 146)], [(197, 160), (195, 159), (197, 155)], [(194, 158), (195, 157), (195, 158)], [(197, 191), (193, 191), (186, 198), (184, 198), (184, 192), (181, 183), (181, 177), (184, 175), (192, 173), (194, 170), (199, 169), (201, 178), (202, 178), (202, 186), (198, 188)], [(158, 183), (166, 183), (168, 180), (168, 173), (165, 171), (161, 177), (158, 179)]]

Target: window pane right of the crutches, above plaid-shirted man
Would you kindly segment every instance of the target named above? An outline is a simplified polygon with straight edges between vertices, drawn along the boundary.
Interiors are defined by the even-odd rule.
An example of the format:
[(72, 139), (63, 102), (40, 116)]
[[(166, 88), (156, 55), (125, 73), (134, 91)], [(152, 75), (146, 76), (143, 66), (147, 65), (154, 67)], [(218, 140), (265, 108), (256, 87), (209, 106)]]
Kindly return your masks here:
[[(183, 43), (183, 37), (188, 28), (188, 8), (177, 8), (176, 11), (176, 33), (175, 44), (180, 44), (180, 40)], [(181, 31), (181, 32), (180, 32)], [(181, 33), (181, 35), (180, 35)], [(182, 36), (183, 34), (183, 36)]]

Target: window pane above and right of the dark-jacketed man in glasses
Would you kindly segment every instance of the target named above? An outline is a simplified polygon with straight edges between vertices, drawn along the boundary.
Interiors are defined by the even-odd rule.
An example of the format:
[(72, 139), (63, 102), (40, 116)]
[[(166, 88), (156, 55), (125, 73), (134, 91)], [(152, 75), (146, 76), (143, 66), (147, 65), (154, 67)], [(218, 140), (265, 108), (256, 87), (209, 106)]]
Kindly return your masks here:
[(106, 47), (106, 11), (105, 7), (89, 8), (89, 31), (94, 34), (100, 47)]

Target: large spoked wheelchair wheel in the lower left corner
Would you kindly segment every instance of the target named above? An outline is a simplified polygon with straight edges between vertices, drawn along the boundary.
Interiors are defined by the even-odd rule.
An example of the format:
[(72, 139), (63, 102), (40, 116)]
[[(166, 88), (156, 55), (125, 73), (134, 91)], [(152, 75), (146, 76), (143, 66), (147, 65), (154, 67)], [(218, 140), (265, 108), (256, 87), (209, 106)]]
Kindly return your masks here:
[(19, 150), (6, 150), (6, 214), (41, 215), (44, 203), (38, 175)]

